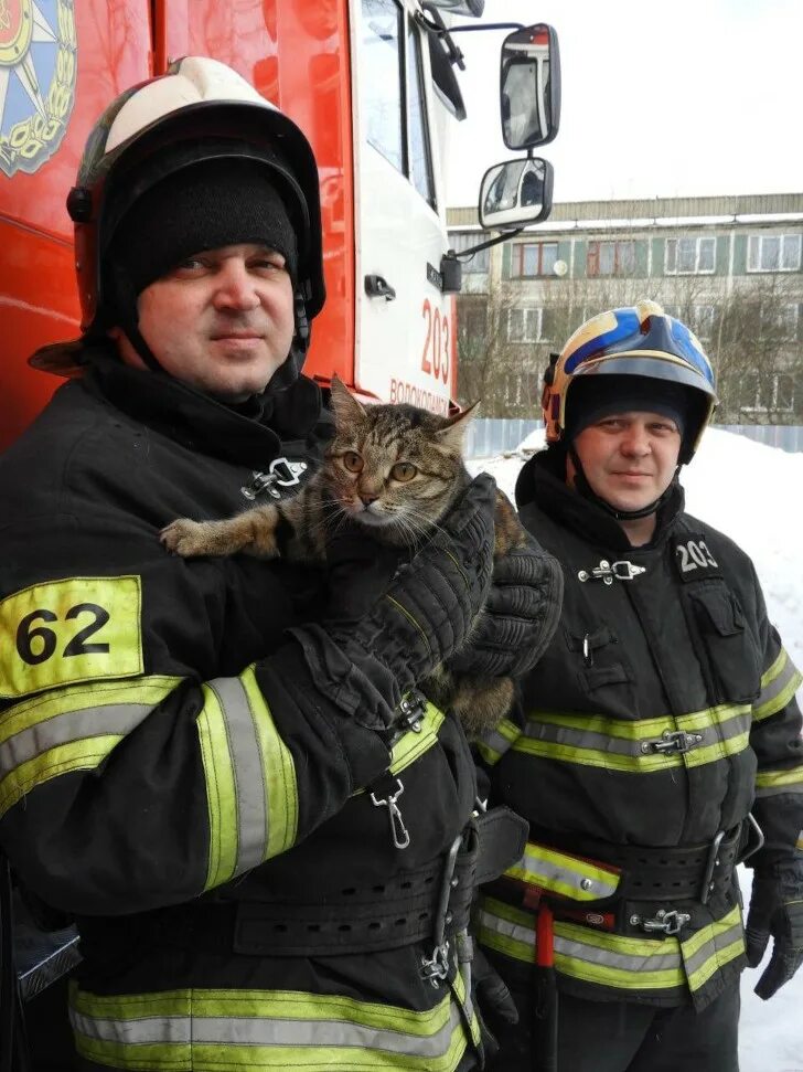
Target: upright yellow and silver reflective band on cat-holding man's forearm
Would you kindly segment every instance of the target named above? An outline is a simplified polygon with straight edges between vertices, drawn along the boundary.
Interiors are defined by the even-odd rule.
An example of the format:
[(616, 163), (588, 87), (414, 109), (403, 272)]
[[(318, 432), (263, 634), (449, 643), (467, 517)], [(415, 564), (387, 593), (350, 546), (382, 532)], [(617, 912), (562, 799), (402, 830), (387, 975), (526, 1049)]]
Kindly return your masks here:
[(292, 757), (254, 679), (254, 667), (202, 689), (197, 730), (206, 775), (210, 890), (293, 843), (298, 789)]

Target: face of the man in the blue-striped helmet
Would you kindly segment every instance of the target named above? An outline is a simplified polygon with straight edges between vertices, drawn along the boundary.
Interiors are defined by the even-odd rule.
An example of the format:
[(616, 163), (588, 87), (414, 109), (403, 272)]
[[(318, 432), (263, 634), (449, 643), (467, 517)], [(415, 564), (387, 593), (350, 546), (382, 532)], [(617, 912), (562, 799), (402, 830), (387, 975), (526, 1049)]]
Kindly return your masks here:
[[(632, 411), (603, 417), (575, 437), (591, 489), (617, 510), (641, 510), (672, 484), (681, 433), (670, 417)], [(574, 466), (568, 463), (569, 484)]]

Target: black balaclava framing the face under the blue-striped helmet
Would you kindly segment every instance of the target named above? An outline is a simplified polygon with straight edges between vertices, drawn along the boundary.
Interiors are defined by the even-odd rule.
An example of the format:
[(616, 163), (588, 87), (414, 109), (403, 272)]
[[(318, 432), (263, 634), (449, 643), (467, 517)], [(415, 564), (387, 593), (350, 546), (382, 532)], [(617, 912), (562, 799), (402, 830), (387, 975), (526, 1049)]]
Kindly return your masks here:
[(690, 399), (687, 388), (671, 380), (659, 380), (651, 376), (635, 375), (587, 375), (577, 376), (566, 399), (566, 427), (564, 436), (568, 444), (568, 455), (574, 463), (575, 488), (583, 499), (596, 503), (617, 521), (635, 521), (655, 513), (662, 502), (672, 491), (675, 479), (663, 495), (654, 502), (647, 503), (640, 510), (618, 510), (602, 499), (588, 482), (582, 470), (580, 458), (575, 449), (575, 439), (597, 421), (602, 421), (614, 413), (659, 413), (668, 417), (677, 425), (681, 433), (681, 457), (683, 457), (686, 437), (689, 434)]

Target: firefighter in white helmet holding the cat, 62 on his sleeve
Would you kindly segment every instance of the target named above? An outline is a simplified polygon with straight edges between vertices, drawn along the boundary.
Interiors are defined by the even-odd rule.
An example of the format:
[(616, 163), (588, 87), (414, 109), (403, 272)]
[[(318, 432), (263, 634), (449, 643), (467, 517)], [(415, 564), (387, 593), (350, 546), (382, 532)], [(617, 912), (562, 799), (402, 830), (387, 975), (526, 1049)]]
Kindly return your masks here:
[[(491, 586), (471, 650), (507, 672), (554, 627), (556, 567), (525, 551), (496, 591), (486, 477), (409, 563), (374, 546), (329, 590), (168, 555), (173, 518), (320, 460), (315, 161), (233, 71), (186, 59), (107, 109), (68, 206), (84, 337), (35, 360), (83, 375), (0, 461), (0, 843), (77, 917), (79, 1066), (474, 1068), (461, 934), (474, 879), (510, 860), (472, 819), (460, 726), (409, 690)], [(522, 648), (500, 654), (512, 617)]]

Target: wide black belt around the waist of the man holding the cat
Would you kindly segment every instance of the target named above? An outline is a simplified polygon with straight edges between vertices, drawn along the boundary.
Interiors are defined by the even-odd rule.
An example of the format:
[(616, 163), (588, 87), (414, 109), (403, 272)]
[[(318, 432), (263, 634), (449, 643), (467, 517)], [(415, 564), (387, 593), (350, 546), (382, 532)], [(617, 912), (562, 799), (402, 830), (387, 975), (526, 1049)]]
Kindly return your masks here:
[(442, 945), (468, 926), (475, 888), (521, 858), (526, 836), (525, 820), (493, 808), (472, 818), (446, 856), (417, 870), (377, 874), (371, 885), (330, 890), (309, 902), (237, 900), (235, 887), (216, 899), (107, 925), (127, 943), (133, 936), (151, 946), (239, 956), (343, 956), (433, 938)]

